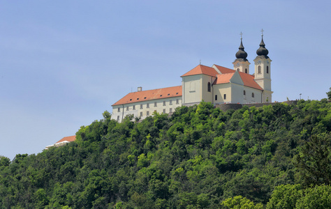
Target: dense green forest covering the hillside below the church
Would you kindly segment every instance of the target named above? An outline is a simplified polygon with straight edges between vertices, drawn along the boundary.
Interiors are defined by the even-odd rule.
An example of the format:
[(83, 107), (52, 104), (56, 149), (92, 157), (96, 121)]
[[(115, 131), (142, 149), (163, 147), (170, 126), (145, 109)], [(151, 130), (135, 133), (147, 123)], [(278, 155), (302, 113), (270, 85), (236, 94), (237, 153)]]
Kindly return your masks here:
[(0, 157), (0, 208), (330, 208), (331, 103), (211, 103), (82, 126)]

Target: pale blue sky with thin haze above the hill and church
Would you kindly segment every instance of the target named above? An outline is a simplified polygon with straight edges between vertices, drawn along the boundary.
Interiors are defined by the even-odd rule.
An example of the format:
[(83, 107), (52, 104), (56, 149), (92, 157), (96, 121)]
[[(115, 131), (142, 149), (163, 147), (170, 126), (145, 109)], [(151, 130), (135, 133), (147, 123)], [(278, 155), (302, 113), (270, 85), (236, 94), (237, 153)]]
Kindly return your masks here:
[[(264, 30), (272, 100), (326, 98), (330, 1), (0, 1), (0, 155), (40, 153), (126, 93), (199, 64), (253, 63)], [(253, 64), (251, 64), (253, 69)]]

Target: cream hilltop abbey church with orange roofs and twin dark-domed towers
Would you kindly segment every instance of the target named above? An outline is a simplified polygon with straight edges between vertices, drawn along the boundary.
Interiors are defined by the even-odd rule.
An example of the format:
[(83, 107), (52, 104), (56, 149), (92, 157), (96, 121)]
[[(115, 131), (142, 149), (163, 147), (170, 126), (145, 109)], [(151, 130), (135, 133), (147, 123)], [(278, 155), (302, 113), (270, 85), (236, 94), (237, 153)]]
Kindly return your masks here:
[(249, 104), (272, 101), (271, 91), (271, 59), (262, 40), (256, 51), (253, 74), (247, 52), (244, 51), (242, 38), (235, 54), (233, 69), (220, 65), (198, 65), (182, 75), (182, 85), (168, 88), (128, 93), (112, 104), (112, 119), (119, 122), (128, 114), (144, 119), (154, 111), (172, 114), (176, 107), (191, 106), (201, 101), (212, 104)]

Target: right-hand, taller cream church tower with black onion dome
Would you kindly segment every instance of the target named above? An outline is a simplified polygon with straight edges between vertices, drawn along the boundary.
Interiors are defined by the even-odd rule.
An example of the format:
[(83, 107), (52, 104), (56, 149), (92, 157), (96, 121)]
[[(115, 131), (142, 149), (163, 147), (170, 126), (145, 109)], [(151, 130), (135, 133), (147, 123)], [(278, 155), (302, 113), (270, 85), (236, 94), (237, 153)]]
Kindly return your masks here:
[(265, 48), (265, 42), (263, 42), (263, 30), (262, 32), (262, 40), (260, 42), (260, 48), (256, 51), (256, 59), (255, 62), (255, 81), (258, 85), (263, 88), (262, 93), (262, 102), (272, 102), (272, 91), (271, 91), (271, 68), (270, 63), (271, 59), (267, 54), (268, 50)]

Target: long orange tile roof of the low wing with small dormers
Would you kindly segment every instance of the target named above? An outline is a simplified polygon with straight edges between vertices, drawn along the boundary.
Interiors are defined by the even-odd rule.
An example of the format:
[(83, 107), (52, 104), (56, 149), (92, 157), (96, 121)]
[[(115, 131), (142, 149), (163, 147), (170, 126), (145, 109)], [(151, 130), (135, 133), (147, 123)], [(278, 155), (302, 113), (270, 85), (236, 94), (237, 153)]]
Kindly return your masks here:
[(182, 96), (182, 86), (173, 86), (168, 88), (158, 88), (147, 91), (137, 91), (128, 93), (124, 98), (115, 102), (114, 105), (129, 104), (134, 102), (144, 102), (148, 100), (159, 100), (163, 98), (173, 98)]

